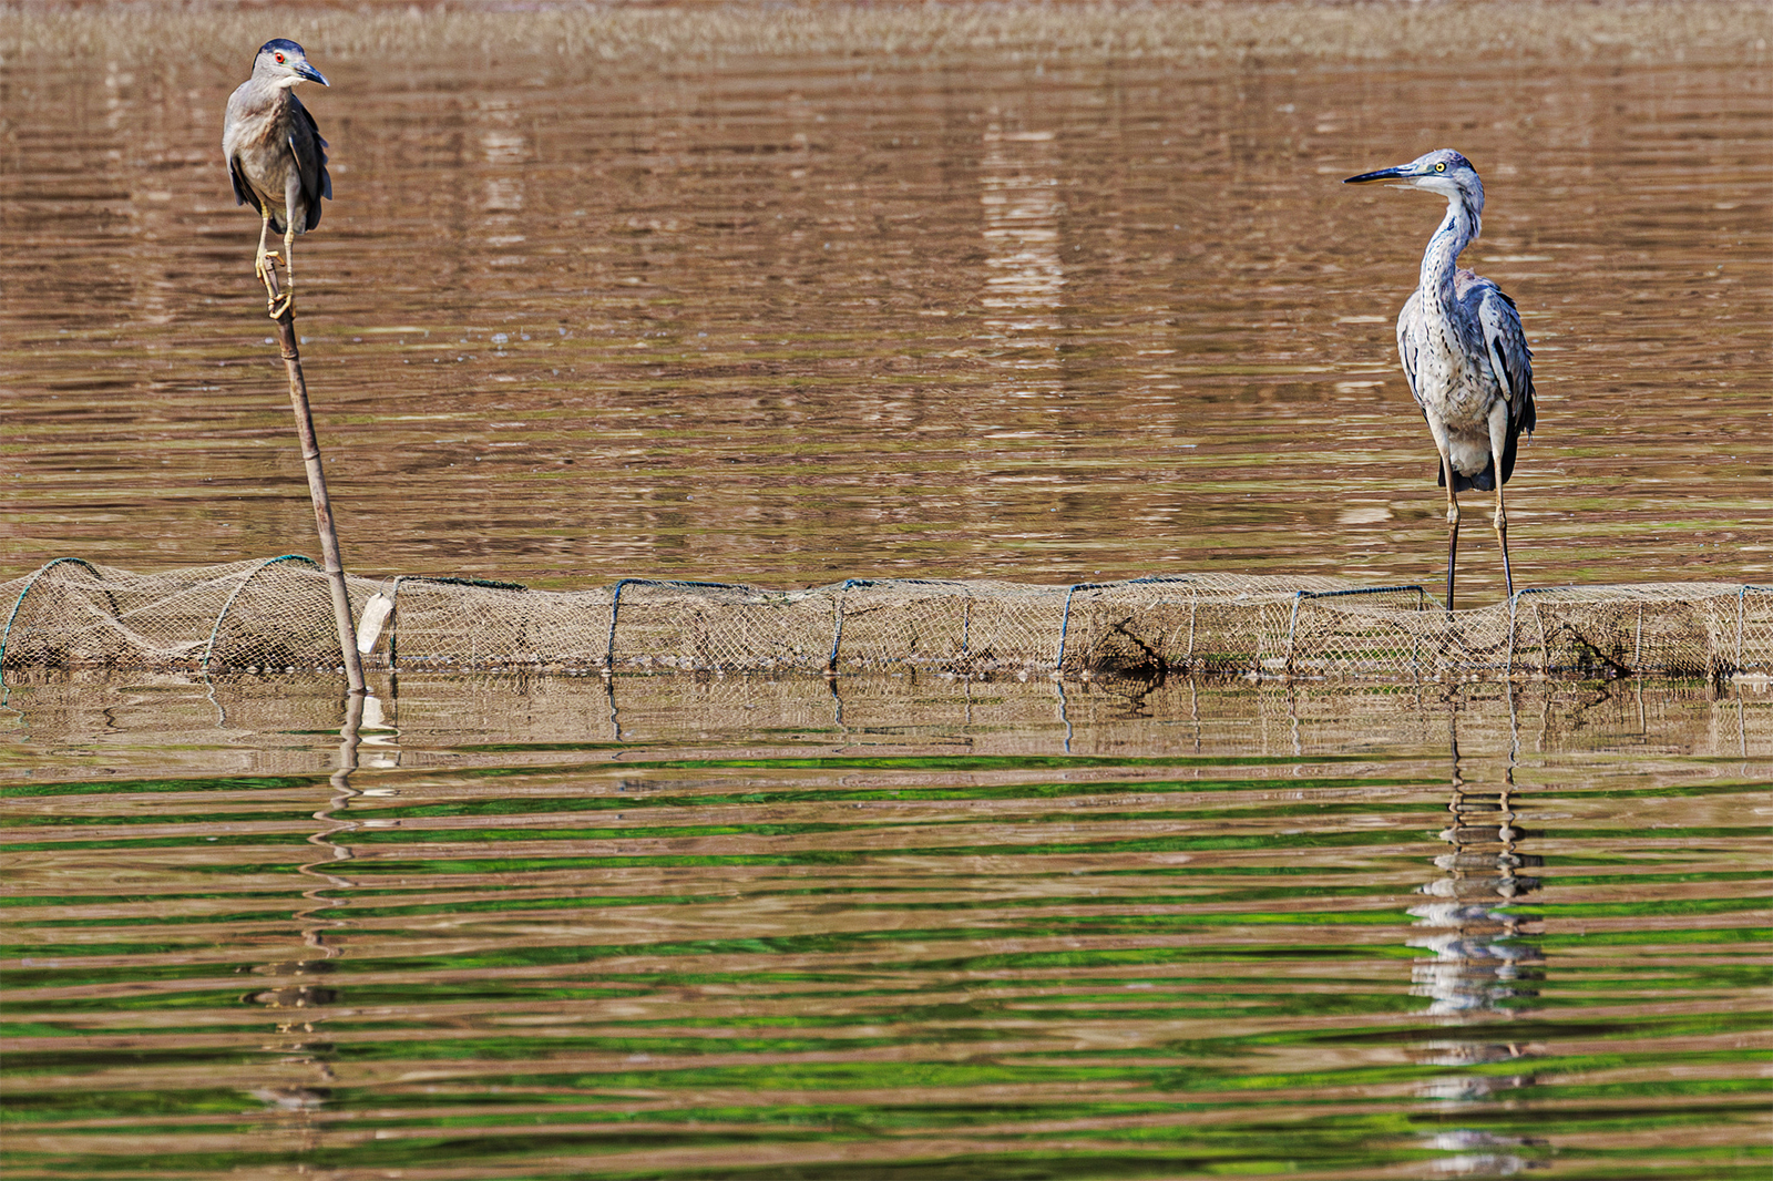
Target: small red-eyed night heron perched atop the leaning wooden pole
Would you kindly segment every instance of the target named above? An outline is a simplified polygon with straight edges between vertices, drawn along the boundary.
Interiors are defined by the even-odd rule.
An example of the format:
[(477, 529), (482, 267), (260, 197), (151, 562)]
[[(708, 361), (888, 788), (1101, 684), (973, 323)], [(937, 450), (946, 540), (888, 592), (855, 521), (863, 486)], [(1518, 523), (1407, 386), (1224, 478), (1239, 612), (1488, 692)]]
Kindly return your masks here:
[[(252, 78), (229, 96), (222, 124), (222, 156), (234, 181), (234, 204), (252, 204), (262, 218), (254, 273), (264, 280), (266, 294), (271, 293), (266, 268), (273, 259), (284, 262), (284, 296), (280, 301), (271, 296), (271, 319), (296, 300), (296, 234), (321, 223), (321, 197), (332, 197), (326, 140), (296, 98), (298, 82), (330, 85), (309, 66), (300, 44), (285, 37), (266, 41), (252, 62)], [(282, 255), (264, 248), (273, 229), (284, 236)]]

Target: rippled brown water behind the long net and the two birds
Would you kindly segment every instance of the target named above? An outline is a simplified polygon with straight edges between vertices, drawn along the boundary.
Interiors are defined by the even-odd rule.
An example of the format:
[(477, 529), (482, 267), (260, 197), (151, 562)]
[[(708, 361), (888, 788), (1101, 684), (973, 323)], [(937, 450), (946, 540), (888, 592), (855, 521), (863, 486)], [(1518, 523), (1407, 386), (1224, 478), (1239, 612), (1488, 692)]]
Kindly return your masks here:
[(1378, 60), (1262, 57), (1275, 12), (1360, 16), (1285, 5), (1213, 16), (1262, 41), (1243, 60), (1184, 9), (1140, 18), (1167, 53), (1076, 44), (1113, 41), (1101, 12), (924, 53), (888, 34), (961, 18), (826, 9), (773, 53), (789, 18), (697, 12), (582, 43), (548, 12), (14, 23), (0, 576), (312, 551), (218, 160), (291, 32), (333, 82), (303, 94), (337, 200), (296, 254), (353, 571), (1431, 582), (1390, 323), (1440, 207), (1339, 179), (1447, 144), (1489, 190), (1466, 262), (1537, 353), (1523, 583), (1768, 580), (1764, 9), (1656, 55), (1518, 14), (1477, 60), (1411, 53), (1433, 21), (1381, 21)]

